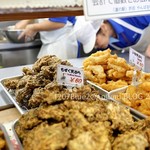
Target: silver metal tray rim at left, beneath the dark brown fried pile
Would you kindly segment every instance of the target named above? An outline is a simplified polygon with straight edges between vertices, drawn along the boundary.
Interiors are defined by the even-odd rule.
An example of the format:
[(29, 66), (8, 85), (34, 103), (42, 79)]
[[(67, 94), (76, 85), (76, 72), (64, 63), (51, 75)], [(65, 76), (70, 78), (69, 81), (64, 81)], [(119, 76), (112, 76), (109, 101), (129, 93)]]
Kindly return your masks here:
[(0, 80), (0, 85), (2, 87), (2, 89), (5, 91), (5, 93), (7, 94), (7, 96), (9, 97), (9, 99), (11, 100), (11, 102), (15, 105), (15, 107), (18, 109), (18, 111), (21, 114), (24, 114), (25, 112), (27, 112), (27, 109), (24, 106), (21, 106), (15, 98), (15, 93), (13, 90), (8, 90), (5, 86), (4, 86), (4, 82), (8, 79), (19, 79), (22, 76), (15, 76), (15, 77), (8, 77), (8, 78), (4, 78)]

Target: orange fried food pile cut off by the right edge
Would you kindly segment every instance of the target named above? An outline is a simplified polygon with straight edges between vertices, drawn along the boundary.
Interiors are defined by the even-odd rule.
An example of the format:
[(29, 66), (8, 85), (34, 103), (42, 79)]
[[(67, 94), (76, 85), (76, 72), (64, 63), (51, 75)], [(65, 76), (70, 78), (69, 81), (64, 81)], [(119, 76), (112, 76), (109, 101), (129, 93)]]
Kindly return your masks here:
[(111, 97), (150, 116), (150, 81), (129, 85), (125, 90), (118, 91)]

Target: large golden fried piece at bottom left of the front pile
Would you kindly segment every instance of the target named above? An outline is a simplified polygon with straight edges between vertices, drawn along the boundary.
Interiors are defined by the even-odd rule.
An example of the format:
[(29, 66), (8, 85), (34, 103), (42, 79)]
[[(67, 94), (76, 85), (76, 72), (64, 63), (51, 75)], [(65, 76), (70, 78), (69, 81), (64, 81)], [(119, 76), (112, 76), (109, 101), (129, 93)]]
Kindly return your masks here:
[(23, 140), (24, 150), (58, 150), (67, 146), (70, 128), (64, 123), (48, 125), (43, 122), (28, 133)]

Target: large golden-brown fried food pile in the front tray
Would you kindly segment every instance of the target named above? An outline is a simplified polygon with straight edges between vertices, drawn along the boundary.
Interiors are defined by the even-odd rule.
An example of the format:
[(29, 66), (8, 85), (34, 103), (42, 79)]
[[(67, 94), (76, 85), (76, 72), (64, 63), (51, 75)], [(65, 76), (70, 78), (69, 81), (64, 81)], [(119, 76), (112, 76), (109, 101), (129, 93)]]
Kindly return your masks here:
[[(79, 89), (79, 93), (83, 87)], [(90, 89), (90, 87), (89, 87)], [(78, 92), (78, 89), (77, 89)], [(93, 94), (88, 90), (89, 94)], [(86, 93), (87, 94), (87, 93)], [(136, 121), (129, 109), (95, 94), (85, 100), (47, 100), (23, 114), (15, 131), (25, 150), (145, 150), (150, 120)], [(50, 103), (49, 103), (50, 102)]]

